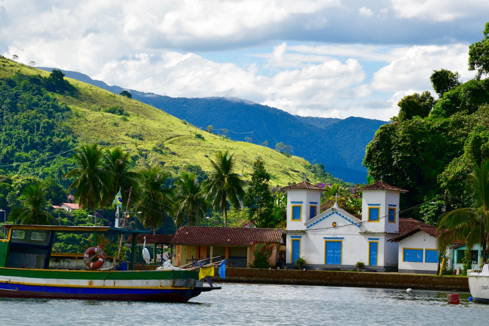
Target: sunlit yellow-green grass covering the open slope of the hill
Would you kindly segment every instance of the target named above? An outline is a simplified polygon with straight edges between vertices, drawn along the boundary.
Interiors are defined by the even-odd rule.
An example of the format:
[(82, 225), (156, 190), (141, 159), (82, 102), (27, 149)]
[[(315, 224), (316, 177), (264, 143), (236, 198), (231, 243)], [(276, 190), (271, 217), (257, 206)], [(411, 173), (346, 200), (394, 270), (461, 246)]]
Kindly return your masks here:
[[(20, 65), (9, 60), (0, 65), (0, 77), (8, 77), (20, 70), (22, 74), (49, 75), (49, 72)], [(67, 121), (80, 141), (99, 141), (110, 147), (120, 146), (131, 152), (137, 165), (160, 165), (175, 174), (176, 168), (187, 164), (199, 165), (210, 171), (209, 158), (217, 151), (229, 150), (234, 153), (239, 172), (244, 172), (249, 180), (253, 172), (252, 164), (256, 156), (266, 162), (267, 171), (272, 175), (270, 184), (286, 185), (300, 182), (313, 174), (304, 165), (308, 162), (300, 157), (280, 154), (264, 146), (246, 142), (222, 139), (218, 135), (197, 130), (204, 139), (195, 137), (196, 128), (178, 118), (124, 96), (82, 83), (67, 80), (79, 89), (76, 97), (57, 94), (60, 103), (67, 103), (73, 116)], [(103, 112), (103, 109), (121, 106), (129, 116)], [(159, 146), (159, 147), (158, 147)]]

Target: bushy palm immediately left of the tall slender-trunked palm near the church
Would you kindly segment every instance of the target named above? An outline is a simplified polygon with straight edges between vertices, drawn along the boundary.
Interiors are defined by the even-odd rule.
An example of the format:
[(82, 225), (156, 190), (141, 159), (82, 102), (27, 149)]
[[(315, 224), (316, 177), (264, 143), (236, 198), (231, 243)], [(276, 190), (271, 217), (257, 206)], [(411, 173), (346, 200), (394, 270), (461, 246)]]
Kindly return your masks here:
[(175, 225), (182, 225), (185, 217), (188, 219), (188, 225), (195, 224), (199, 217), (204, 218), (204, 213), (210, 206), (205, 199), (199, 179), (195, 173), (182, 173), (181, 177), (175, 181)]

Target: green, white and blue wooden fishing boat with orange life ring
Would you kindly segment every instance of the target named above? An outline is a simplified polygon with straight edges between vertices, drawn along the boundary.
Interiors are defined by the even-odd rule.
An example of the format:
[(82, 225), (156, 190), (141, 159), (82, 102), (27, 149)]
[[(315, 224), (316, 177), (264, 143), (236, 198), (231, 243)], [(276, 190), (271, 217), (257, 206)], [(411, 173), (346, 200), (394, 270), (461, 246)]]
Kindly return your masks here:
[[(134, 270), (136, 235), (151, 231), (108, 226), (7, 224), (4, 227), (8, 233), (7, 239), (0, 239), (0, 297), (186, 302), (201, 292), (221, 288), (204, 286), (195, 268)], [(107, 262), (105, 256), (95, 254), (93, 259), (85, 257), (88, 265), (92, 262), (92, 267), (95, 263), (98, 267), (102, 260), (110, 266), (61, 269), (59, 264), (50, 263), (56, 261), (51, 254), (55, 233), (93, 233), (90, 248), (95, 248), (94, 251), (99, 248), (98, 234), (109, 239), (117, 234), (133, 235), (129, 268), (120, 270), (125, 269), (122, 268), (125, 262), (116, 266)]]

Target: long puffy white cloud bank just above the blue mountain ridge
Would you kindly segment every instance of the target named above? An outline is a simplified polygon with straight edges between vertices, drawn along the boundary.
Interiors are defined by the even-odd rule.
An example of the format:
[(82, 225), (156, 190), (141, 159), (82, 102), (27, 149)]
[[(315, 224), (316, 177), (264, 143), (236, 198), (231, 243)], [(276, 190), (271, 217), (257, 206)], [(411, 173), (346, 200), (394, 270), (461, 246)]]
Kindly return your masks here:
[(332, 111), (338, 94), (355, 97), (355, 88), (365, 74), (355, 59), (341, 63), (330, 58), (318, 65), (287, 69), (266, 77), (258, 74), (254, 65), (244, 69), (192, 53), (165, 52), (160, 57), (138, 54), (126, 60), (113, 60), (92, 77), (174, 97), (239, 97), (300, 114), (313, 107)]

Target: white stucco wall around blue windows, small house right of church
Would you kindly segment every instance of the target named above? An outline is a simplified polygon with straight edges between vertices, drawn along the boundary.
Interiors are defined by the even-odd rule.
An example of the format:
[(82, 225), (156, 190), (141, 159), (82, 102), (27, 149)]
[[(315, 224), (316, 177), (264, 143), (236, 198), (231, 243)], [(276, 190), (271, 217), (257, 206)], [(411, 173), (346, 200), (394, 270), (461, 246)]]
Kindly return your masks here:
[[(423, 262), (402, 261), (403, 248), (423, 249)], [(436, 249), (436, 238), (424, 231), (399, 241), (399, 271), (431, 271), (436, 273), (438, 262), (425, 262), (426, 249)]]

